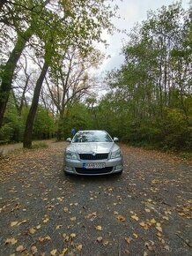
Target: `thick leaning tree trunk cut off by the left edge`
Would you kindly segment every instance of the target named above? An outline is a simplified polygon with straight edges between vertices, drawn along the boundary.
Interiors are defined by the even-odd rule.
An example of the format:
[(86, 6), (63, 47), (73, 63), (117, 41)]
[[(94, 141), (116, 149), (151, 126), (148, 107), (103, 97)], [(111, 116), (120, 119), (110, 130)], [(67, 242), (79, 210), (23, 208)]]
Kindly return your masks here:
[(16, 42), (16, 45), (12, 50), (7, 63), (4, 65), (4, 72), (2, 75), (2, 83), (0, 87), (0, 128), (2, 127), (4, 121), (4, 112), (9, 100), (11, 82), (18, 63), (18, 59), (21, 56), (23, 49), (25, 49), (26, 41), (30, 39), (32, 34), (33, 32), (31, 27), (27, 28), (24, 34), (18, 34), (18, 41)]

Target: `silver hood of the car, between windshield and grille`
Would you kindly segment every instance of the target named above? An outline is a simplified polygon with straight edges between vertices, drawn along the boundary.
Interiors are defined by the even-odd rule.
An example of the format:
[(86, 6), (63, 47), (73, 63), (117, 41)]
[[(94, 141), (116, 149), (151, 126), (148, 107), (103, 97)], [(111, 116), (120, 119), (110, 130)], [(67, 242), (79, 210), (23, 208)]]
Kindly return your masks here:
[(116, 151), (119, 149), (114, 142), (81, 142), (81, 143), (70, 143), (66, 150), (76, 152), (78, 154), (88, 154), (88, 153), (109, 153), (111, 151)]

